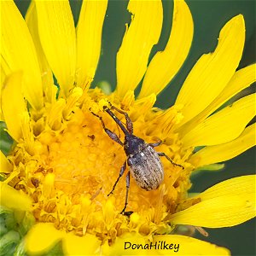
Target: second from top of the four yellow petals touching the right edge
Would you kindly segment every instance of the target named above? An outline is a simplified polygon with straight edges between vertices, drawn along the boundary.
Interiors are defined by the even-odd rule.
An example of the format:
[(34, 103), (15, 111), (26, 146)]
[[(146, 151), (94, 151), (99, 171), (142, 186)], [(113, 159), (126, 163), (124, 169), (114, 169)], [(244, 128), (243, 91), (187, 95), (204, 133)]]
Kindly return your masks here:
[(228, 143), (236, 139), (255, 115), (255, 93), (213, 114), (183, 137), (183, 146)]

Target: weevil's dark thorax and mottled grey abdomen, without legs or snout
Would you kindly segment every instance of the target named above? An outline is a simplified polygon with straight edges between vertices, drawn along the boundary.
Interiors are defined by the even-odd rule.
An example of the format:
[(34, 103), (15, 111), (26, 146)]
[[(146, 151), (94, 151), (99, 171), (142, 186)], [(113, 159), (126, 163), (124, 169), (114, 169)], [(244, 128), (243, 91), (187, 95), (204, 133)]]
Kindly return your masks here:
[(134, 135), (125, 136), (127, 164), (138, 186), (145, 190), (157, 189), (164, 179), (159, 155), (152, 146)]

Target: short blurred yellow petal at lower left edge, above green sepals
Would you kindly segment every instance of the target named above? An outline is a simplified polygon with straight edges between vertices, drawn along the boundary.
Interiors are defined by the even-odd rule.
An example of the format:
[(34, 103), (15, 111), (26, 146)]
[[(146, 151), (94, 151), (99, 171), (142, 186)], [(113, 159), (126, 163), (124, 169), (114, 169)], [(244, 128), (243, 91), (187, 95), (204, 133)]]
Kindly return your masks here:
[(3, 182), (0, 182), (0, 202), (1, 206), (10, 209), (18, 211), (32, 210), (32, 201), (23, 191), (16, 190)]

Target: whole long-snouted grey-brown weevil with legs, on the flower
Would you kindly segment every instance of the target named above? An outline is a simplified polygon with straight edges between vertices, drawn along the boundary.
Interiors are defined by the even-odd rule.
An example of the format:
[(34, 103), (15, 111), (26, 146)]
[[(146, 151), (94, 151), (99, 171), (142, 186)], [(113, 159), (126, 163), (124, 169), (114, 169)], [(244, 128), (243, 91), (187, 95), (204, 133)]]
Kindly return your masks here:
[[(113, 131), (110, 131), (108, 128), (106, 128), (101, 116), (93, 112), (91, 113), (101, 120), (104, 131), (106, 131), (108, 136), (113, 139), (113, 141), (119, 143), (124, 148), (125, 154), (127, 156), (127, 159), (120, 169), (119, 177), (113, 184), (113, 189), (108, 194), (113, 194), (113, 190), (119, 182), (120, 177), (122, 177), (125, 172), (127, 163), (127, 165), (130, 166), (130, 171), (126, 175), (125, 207), (123, 208), (122, 212), (120, 212), (124, 214), (128, 204), (130, 172), (131, 176), (135, 179), (139, 187), (145, 190), (152, 190), (157, 189), (164, 179), (164, 169), (160, 161), (160, 156), (165, 156), (166, 159), (171, 161), (172, 165), (174, 166), (180, 165), (174, 163), (165, 153), (155, 151), (154, 147), (159, 146), (162, 143), (161, 141), (158, 143), (146, 143), (142, 138), (135, 136), (133, 134), (133, 124), (128, 113), (114, 106), (111, 106), (111, 109), (125, 115), (126, 125), (123, 125), (123, 123), (117, 118), (112, 110), (110, 110), (110, 108), (107, 106), (103, 107), (103, 110), (113, 118), (117, 125), (119, 125), (120, 129), (125, 133), (124, 143), (120, 141), (119, 137)], [(180, 167), (183, 168), (183, 166)]]

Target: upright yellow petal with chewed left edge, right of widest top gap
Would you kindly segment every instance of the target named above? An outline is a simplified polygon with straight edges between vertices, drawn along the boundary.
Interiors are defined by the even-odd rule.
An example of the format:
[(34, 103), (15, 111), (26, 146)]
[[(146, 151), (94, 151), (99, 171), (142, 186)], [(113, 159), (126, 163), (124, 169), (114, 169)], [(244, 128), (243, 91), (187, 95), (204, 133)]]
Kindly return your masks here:
[(126, 91), (134, 90), (143, 79), (148, 55), (159, 40), (163, 20), (160, 0), (131, 0), (128, 9), (132, 14), (131, 25), (117, 54), (117, 92), (121, 97)]

